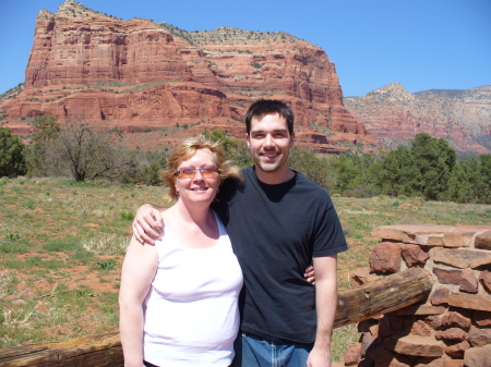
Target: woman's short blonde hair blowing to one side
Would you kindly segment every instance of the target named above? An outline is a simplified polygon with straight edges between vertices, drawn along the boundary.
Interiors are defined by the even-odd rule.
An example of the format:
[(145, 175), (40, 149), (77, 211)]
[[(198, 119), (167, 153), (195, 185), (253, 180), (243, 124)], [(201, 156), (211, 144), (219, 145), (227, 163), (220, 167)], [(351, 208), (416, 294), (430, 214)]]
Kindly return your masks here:
[(167, 169), (161, 173), (164, 182), (169, 186), (169, 194), (167, 195), (169, 199), (176, 200), (179, 196), (173, 184), (179, 164), (181, 164), (182, 161), (190, 159), (197, 150), (202, 149), (212, 152), (220, 176), (220, 185), (228, 179), (242, 180), (240, 169), (236, 166), (230, 166), (230, 162), (225, 159), (225, 152), (220, 142), (213, 142), (204, 136), (191, 137), (176, 146), (172, 154), (167, 159)]

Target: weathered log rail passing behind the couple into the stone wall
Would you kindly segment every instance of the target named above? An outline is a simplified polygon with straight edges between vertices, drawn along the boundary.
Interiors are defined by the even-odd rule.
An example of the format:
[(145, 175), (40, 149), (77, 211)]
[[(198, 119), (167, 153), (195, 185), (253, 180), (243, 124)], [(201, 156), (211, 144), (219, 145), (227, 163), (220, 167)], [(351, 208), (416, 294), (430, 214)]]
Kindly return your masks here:
[[(428, 271), (410, 268), (378, 282), (340, 292), (334, 327), (359, 322), (426, 301), (432, 284), (433, 280)], [(0, 350), (0, 366), (5, 367), (123, 365), (119, 333)]]

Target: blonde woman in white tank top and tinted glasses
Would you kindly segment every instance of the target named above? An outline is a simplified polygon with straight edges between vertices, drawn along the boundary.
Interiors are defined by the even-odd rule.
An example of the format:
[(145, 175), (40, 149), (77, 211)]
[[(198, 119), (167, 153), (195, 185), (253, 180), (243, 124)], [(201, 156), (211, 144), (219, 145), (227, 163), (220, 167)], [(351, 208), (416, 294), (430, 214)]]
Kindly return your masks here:
[(209, 205), (220, 183), (240, 178), (221, 147), (181, 143), (164, 179), (176, 204), (163, 212), (156, 246), (131, 240), (120, 290), (120, 332), (127, 367), (229, 366), (239, 328), (242, 272)]

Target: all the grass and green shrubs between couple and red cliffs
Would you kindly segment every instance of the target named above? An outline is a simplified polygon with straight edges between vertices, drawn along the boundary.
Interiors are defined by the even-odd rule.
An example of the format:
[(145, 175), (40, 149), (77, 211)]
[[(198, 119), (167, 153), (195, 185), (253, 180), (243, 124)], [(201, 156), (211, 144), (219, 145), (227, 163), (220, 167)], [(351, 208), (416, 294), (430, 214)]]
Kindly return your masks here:
[[(0, 129), (0, 347), (117, 331), (134, 211), (163, 205), (166, 194), (158, 175), (166, 150), (129, 151), (117, 130), (60, 126), (52, 117), (33, 127), (27, 147)], [(243, 142), (224, 131), (204, 134), (221, 140), (236, 164), (251, 164)], [(333, 196), (350, 246), (339, 256), (346, 290), (350, 271), (367, 266), (376, 227), (489, 224), (490, 158), (457, 162), (445, 142), (421, 134), (411, 147), (381, 156), (294, 149), (290, 163)], [(470, 203), (445, 196), (457, 187), (469, 195), (454, 201)], [(336, 360), (356, 343), (355, 329), (335, 331)]]

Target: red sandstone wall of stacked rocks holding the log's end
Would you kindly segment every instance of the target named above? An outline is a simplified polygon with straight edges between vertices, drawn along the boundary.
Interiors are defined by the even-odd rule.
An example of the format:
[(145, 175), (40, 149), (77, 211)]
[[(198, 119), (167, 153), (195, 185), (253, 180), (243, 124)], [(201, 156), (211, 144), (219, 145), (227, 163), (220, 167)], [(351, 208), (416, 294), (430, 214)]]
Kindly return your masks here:
[(490, 367), (491, 227), (388, 225), (354, 285), (410, 267), (433, 277), (426, 303), (358, 323), (345, 366)]

